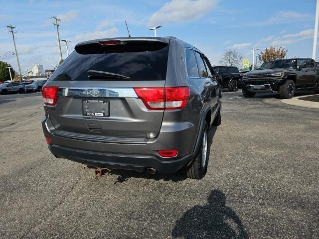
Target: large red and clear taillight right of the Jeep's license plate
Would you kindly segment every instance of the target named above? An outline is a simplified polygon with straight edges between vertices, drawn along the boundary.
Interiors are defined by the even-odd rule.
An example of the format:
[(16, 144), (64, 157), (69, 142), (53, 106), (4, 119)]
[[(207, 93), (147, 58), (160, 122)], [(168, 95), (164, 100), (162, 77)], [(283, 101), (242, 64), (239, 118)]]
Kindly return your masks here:
[(138, 87), (134, 90), (149, 110), (183, 109), (189, 97), (188, 87)]

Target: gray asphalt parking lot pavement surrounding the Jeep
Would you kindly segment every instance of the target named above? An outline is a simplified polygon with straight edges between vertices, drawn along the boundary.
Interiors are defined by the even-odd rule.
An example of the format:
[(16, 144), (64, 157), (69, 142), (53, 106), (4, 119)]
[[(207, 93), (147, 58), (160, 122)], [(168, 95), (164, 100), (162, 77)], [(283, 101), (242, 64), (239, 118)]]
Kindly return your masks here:
[[(223, 95), (203, 180), (49, 152), (40, 93), (0, 96), (0, 238), (319, 238), (319, 110)], [(182, 140), (182, 139), (181, 139)]]

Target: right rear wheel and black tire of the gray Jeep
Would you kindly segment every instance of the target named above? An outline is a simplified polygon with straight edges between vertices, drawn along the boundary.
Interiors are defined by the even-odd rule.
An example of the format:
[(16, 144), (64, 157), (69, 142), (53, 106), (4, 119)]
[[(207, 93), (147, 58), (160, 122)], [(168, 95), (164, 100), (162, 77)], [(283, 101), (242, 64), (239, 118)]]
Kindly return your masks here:
[[(206, 137), (206, 144), (204, 143), (204, 137)], [(205, 123), (203, 133), (200, 137), (200, 146), (197, 152), (195, 159), (189, 166), (185, 166), (186, 176), (192, 179), (202, 179), (207, 173), (207, 165), (209, 159), (209, 145), (208, 145), (208, 126)], [(203, 161), (203, 147), (206, 146), (206, 157), (205, 161)]]

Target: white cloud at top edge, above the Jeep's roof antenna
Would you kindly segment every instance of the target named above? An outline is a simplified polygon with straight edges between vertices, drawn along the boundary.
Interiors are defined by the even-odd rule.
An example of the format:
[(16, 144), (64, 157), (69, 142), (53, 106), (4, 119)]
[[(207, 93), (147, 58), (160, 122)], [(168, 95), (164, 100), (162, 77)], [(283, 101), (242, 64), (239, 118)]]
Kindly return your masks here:
[(148, 25), (197, 19), (208, 13), (217, 2), (218, 0), (171, 0), (151, 16)]

